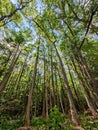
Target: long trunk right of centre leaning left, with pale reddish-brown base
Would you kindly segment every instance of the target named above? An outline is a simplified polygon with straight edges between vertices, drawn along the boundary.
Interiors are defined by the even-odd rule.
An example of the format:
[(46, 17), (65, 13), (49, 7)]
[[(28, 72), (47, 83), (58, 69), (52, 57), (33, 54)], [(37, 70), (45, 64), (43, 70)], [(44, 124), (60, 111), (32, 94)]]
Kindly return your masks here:
[(66, 88), (66, 91), (67, 91), (68, 100), (69, 100), (69, 104), (70, 104), (70, 111), (71, 111), (72, 122), (73, 122), (73, 124), (75, 126), (78, 126), (79, 125), (78, 114), (77, 114), (77, 111), (76, 111), (76, 108), (75, 108), (75, 105), (74, 105), (74, 101), (73, 101), (73, 97), (72, 97), (72, 92), (70, 90), (70, 86), (69, 86), (69, 83), (68, 83), (68, 79), (67, 79), (67, 76), (66, 76), (64, 65), (63, 65), (61, 57), (60, 57), (60, 55), (58, 53), (58, 50), (56, 48), (55, 43), (53, 43), (53, 45), (55, 47), (56, 54), (57, 54), (57, 56), (59, 58), (59, 63), (60, 63), (62, 75), (63, 75), (63, 78), (64, 78), (65, 88)]

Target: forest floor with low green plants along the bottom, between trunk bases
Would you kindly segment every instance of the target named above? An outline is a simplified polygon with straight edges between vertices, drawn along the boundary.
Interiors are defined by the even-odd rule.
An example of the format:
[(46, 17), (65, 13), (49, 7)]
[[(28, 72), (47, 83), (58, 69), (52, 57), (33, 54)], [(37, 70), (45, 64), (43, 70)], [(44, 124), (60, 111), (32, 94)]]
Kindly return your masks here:
[[(53, 116), (53, 115), (52, 115)], [(80, 122), (84, 130), (98, 130), (98, 119), (92, 119), (91, 116), (81, 114)], [(12, 119), (11, 117), (0, 118), (0, 130), (16, 130), (24, 124), (23, 118)], [(54, 118), (44, 119), (42, 117), (32, 118), (32, 130), (73, 130), (73, 125), (69, 117), (56, 116)], [(21, 129), (22, 130), (22, 129)]]

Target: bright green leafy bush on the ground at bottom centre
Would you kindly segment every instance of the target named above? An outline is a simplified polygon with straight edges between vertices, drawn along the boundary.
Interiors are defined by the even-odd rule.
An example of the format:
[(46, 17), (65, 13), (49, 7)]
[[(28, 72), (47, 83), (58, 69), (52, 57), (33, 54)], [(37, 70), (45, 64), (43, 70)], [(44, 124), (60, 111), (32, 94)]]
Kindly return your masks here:
[[(51, 130), (64, 130), (62, 124), (65, 121), (65, 117), (59, 112), (57, 106), (55, 106), (50, 114), (48, 119), (40, 118), (32, 118), (31, 124), (32, 126), (36, 126), (37, 128), (41, 129), (42, 126), (47, 129)], [(70, 126), (71, 128), (71, 126)]]

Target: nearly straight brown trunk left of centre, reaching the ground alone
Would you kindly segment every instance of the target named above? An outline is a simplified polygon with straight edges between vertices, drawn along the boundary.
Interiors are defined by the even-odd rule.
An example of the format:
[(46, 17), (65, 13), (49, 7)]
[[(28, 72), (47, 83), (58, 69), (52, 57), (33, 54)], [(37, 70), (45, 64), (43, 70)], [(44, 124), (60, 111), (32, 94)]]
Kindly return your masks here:
[(32, 107), (33, 90), (34, 90), (35, 80), (36, 80), (38, 58), (39, 58), (39, 45), (37, 47), (37, 56), (36, 56), (36, 59), (35, 59), (34, 72), (33, 72), (31, 87), (30, 87), (27, 106), (26, 106), (26, 120), (25, 120), (25, 126), (26, 127), (30, 126), (30, 117), (31, 117), (30, 112), (31, 112), (31, 107)]

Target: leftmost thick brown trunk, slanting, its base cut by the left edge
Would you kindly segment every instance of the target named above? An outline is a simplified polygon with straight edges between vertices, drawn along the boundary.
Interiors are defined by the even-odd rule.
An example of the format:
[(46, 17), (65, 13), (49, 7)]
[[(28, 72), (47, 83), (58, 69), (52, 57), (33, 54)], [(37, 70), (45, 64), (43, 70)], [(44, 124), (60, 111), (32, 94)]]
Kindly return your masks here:
[(18, 53), (18, 49), (19, 49), (19, 46), (13, 56), (13, 59), (12, 59), (11, 65), (9, 66), (8, 72), (5, 74), (3, 80), (0, 83), (0, 94), (3, 91), (3, 89), (6, 87), (6, 84), (8, 83), (8, 80), (13, 72), (14, 66), (19, 58), (21, 51)]

